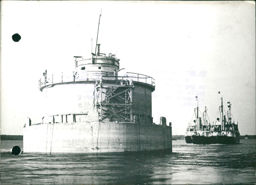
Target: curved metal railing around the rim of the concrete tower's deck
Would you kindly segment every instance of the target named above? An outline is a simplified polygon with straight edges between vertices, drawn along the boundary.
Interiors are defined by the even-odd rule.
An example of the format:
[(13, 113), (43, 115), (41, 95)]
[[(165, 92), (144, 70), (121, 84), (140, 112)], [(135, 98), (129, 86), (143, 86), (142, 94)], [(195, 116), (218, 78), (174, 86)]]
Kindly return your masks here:
[[(73, 73), (73, 74), (72, 74)], [(155, 86), (155, 79), (138, 73), (126, 73), (126, 76), (117, 76), (117, 73), (106, 72), (106, 71), (86, 71), (82, 73), (71, 72), (71, 73), (61, 73), (61, 74), (47, 74), (45, 72), (43, 77), (38, 81), (38, 88), (45, 85), (50, 85), (54, 83), (64, 83), (64, 82), (79, 82), (79, 81), (89, 81), (89, 80), (122, 80), (122, 81), (132, 81), (133, 82), (143, 82)]]

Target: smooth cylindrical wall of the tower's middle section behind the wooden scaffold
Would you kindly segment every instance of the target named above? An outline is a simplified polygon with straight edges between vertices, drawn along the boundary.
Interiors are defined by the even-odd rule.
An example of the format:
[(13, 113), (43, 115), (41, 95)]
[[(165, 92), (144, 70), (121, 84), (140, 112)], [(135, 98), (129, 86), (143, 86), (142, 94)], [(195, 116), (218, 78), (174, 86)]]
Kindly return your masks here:
[[(107, 84), (111, 85), (111, 84)], [(103, 89), (104, 91), (105, 89)], [(120, 92), (124, 89), (119, 89)], [(118, 89), (116, 93), (118, 93)], [(94, 83), (81, 84), (61, 84), (43, 89), (45, 94), (45, 116), (79, 114), (86, 112), (96, 112), (95, 101), (96, 89)], [(104, 99), (104, 94), (102, 95)], [(123, 97), (124, 93), (122, 94)], [(119, 103), (124, 100), (115, 97), (112, 103)], [(152, 117), (152, 96), (151, 89), (147, 86), (134, 86), (132, 89), (132, 113), (138, 116), (140, 123), (151, 123)], [(129, 111), (129, 110), (128, 110)], [(84, 119), (80, 119), (83, 121)], [(78, 120), (79, 121), (79, 120)], [(105, 120), (106, 121), (106, 120)], [(109, 121), (109, 120), (107, 120)], [(112, 118), (112, 121), (120, 121), (118, 118)], [(45, 120), (45, 123), (47, 121)], [(59, 121), (60, 122), (60, 121)]]

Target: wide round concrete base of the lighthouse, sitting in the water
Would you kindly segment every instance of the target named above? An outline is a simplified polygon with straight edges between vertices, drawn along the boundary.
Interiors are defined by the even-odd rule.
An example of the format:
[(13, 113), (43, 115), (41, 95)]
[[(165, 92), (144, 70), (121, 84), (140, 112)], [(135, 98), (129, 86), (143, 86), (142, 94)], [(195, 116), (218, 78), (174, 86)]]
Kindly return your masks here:
[(40, 154), (172, 153), (172, 127), (127, 122), (25, 126), (23, 152)]

